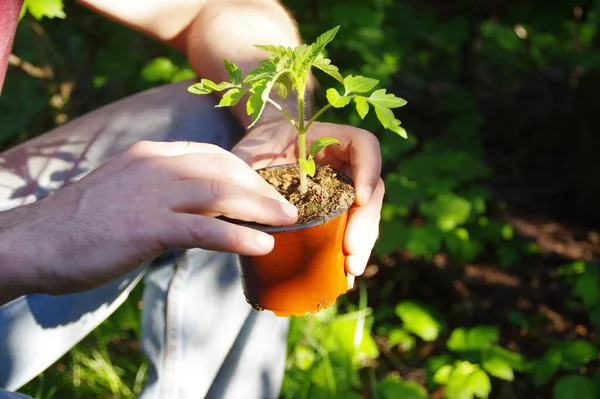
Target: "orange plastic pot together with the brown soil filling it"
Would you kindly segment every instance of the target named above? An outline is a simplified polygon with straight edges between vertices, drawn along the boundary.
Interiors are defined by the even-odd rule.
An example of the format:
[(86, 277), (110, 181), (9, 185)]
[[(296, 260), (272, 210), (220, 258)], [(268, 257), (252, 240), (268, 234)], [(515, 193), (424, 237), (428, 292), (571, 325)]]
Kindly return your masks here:
[(351, 180), (330, 167), (317, 167), (306, 194), (300, 194), (298, 165), (258, 173), (298, 207), (294, 226), (259, 226), (275, 247), (264, 256), (240, 257), (248, 302), (278, 316), (315, 313), (333, 305), (348, 288), (342, 248), (348, 208), (354, 202)]

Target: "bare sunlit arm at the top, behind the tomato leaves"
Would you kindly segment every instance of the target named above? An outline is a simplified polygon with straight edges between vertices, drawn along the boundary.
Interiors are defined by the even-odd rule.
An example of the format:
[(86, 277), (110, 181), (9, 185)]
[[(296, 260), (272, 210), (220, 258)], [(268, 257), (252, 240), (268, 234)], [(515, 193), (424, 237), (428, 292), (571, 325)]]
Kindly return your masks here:
[[(227, 80), (223, 58), (244, 73), (267, 57), (254, 44), (294, 47), (301, 43), (294, 20), (277, 0), (79, 0), (113, 20), (162, 41), (189, 59), (197, 76), (214, 81)], [(232, 111), (244, 125), (249, 124), (245, 107)], [(292, 110), (293, 99), (283, 104)], [(264, 120), (279, 116), (267, 109)]]

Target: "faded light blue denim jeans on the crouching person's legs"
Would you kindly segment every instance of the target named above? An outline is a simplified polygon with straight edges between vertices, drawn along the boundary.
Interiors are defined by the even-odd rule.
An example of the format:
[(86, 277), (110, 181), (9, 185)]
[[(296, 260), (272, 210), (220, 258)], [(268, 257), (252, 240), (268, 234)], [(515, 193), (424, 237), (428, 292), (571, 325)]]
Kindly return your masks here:
[[(0, 154), (0, 209), (43, 198), (140, 140), (231, 148), (240, 128), (212, 97), (187, 93), (189, 84), (128, 97)], [(0, 399), (24, 397), (11, 391), (89, 334), (142, 279), (143, 399), (277, 397), (287, 319), (246, 303), (234, 255), (194, 249), (169, 251), (91, 291), (0, 307)]]

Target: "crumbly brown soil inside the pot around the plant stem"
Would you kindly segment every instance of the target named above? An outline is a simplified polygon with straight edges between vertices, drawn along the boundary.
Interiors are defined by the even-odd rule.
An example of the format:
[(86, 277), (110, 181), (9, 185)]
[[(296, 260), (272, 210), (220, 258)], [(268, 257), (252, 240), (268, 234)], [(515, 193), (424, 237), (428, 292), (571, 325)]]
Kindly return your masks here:
[(329, 166), (317, 166), (308, 177), (308, 190), (301, 194), (298, 165), (263, 169), (258, 172), (267, 182), (298, 208), (297, 224), (326, 219), (354, 202), (354, 187)]

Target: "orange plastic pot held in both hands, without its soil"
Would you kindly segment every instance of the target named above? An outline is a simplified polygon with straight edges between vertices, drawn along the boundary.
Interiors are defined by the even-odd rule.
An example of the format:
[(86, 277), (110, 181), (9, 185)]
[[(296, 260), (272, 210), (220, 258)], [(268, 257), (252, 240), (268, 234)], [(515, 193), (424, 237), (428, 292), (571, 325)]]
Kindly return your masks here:
[(333, 305), (348, 290), (342, 248), (347, 220), (348, 209), (342, 209), (327, 219), (299, 225), (253, 225), (273, 235), (275, 246), (267, 255), (239, 258), (250, 305), (277, 316), (316, 313)]

